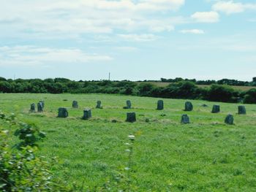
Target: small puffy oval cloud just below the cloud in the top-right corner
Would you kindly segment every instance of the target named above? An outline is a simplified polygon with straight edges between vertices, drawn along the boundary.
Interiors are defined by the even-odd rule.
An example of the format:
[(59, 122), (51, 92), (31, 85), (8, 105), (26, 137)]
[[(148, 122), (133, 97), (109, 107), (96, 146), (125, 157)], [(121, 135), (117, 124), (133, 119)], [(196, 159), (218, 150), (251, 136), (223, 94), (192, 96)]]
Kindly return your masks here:
[(219, 21), (219, 14), (217, 12), (195, 12), (191, 18), (199, 23), (216, 23)]

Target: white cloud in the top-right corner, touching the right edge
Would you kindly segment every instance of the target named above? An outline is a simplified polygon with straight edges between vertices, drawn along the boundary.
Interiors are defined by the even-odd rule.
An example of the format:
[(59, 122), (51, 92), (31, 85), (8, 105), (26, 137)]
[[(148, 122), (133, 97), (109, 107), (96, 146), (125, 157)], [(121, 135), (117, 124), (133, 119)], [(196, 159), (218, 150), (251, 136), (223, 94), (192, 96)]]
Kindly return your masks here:
[(233, 13), (244, 12), (246, 9), (255, 9), (256, 4), (243, 4), (236, 3), (234, 1), (217, 1), (216, 4), (213, 5), (212, 9), (217, 12), (225, 12), (225, 14), (230, 15)]

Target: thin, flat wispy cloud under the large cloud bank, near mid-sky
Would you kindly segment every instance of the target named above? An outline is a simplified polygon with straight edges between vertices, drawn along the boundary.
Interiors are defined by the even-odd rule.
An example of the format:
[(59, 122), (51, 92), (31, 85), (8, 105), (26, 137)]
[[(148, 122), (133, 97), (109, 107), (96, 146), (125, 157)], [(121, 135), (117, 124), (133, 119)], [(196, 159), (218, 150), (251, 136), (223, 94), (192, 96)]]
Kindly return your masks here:
[(159, 39), (159, 37), (154, 34), (118, 34), (118, 37), (132, 42), (151, 42)]

